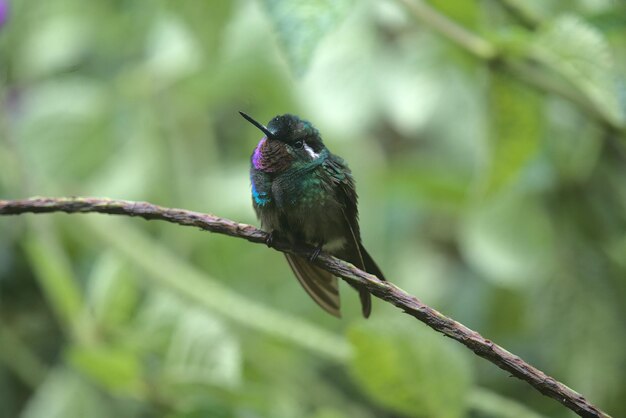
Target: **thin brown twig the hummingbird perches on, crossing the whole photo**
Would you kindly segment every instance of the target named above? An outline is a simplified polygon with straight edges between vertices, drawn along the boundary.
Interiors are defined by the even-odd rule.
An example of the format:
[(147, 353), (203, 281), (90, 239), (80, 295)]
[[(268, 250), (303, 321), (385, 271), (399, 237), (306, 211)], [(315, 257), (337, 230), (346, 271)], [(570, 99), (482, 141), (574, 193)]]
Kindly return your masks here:
[[(19, 215), (23, 213), (86, 213), (98, 212), (110, 215), (138, 216), (146, 220), (158, 219), (184, 226), (194, 226), (202, 230), (243, 238), (257, 244), (264, 244), (268, 234), (246, 224), (234, 222), (210, 214), (192, 212), (184, 209), (164, 208), (146, 202), (97, 198), (32, 198), (26, 200), (0, 200), (0, 215)], [(285, 242), (277, 242), (273, 247), (279, 251), (309, 256), (312, 248), (292, 247)], [(351, 284), (365, 286), (374, 296), (402, 309), (406, 314), (425, 323), (435, 331), (452, 338), (478, 356), (521, 379), (542, 394), (555, 399), (582, 417), (608, 418), (609, 415), (589, 403), (563, 383), (546, 375), (516, 355), (509, 353), (499, 345), (489, 341), (465, 325), (446, 317), (435, 309), (423, 304), (390, 282), (378, 280), (375, 276), (357, 269), (352, 264), (339, 260), (329, 254), (321, 253), (316, 264), (321, 268), (343, 278)]]

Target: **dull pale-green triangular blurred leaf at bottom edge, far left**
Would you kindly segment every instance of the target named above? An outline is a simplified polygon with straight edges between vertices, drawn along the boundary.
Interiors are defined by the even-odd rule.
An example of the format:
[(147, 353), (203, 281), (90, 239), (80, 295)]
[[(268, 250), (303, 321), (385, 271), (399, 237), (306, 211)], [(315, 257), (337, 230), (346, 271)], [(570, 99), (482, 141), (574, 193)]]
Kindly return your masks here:
[(57, 367), (29, 399), (20, 418), (109, 418), (107, 402), (82, 379)]

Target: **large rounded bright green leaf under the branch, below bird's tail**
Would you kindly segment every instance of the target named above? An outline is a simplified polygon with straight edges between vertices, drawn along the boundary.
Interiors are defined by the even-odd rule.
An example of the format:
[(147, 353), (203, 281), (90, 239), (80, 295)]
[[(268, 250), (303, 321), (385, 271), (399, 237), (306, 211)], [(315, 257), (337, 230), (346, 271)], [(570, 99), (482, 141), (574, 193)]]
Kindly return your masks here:
[(453, 342), (414, 322), (369, 323), (349, 330), (352, 375), (377, 402), (411, 417), (464, 415), (472, 373)]

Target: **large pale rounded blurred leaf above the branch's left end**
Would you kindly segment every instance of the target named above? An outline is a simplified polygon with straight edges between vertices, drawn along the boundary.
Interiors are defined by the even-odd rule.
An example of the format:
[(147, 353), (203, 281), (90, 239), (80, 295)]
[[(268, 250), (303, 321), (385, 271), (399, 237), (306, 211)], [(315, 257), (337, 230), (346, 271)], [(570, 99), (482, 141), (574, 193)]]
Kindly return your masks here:
[[(84, 76), (39, 83), (23, 96), (26, 109), (15, 137), (29, 166), (42, 182), (83, 179), (114, 150), (102, 129), (108, 109), (106, 87)], [(77, 158), (80, 156), (80, 158)]]

